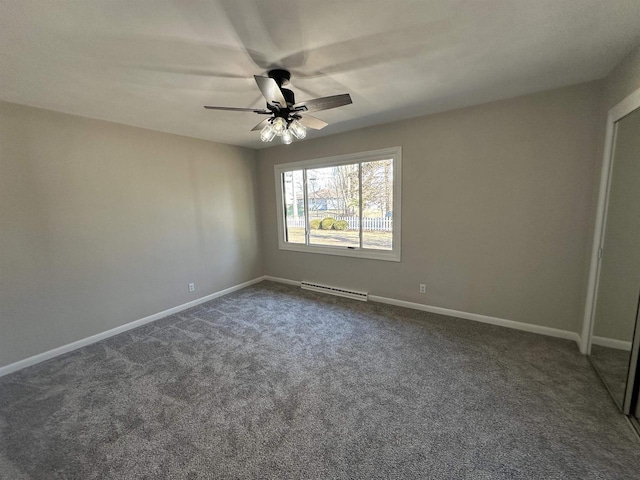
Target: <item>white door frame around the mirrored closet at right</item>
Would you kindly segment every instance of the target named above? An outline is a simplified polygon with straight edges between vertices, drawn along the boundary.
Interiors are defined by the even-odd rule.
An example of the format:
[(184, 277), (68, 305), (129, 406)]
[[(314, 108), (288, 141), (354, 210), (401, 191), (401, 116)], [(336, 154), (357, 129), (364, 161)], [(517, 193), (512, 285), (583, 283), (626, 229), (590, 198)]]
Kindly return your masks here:
[(584, 307), (582, 337), (580, 342), (580, 352), (584, 355), (589, 354), (591, 351), (593, 317), (596, 311), (596, 294), (600, 277), (600, 249), (604, 243), (607, 204), (609, 202), (609, 188), (611, 187), (611, 168), (613, 165), (613, 149), (615, 147), (615, 123), (637, 108), (640, 108), (640, 88), (609, 110), (609, 114), (607, 115), (607, 133), (604, 141), (602, 170), (600, 172), (598, 209), (596, 210), (596, 225), (593, 232), (593, 248), (591, 250), (587, 300)]

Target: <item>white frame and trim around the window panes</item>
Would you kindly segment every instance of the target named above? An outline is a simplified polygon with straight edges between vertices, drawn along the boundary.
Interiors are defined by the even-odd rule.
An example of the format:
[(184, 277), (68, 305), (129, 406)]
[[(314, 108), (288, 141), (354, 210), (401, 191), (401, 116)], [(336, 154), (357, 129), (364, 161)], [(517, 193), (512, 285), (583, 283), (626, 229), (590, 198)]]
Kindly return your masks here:
[[(379, 160), (393, 161), (393, 236), (392, 250), (378, 250), (373, 248), (359, 247), (338, 247), (327, 245), (307, 245), (300, 243), (289, 243), (285, 241), (285, 202), (282, 189), (282, 174), (292, 170), (309, 168), (334, 167), (350, 163), (372, 162)], [(318, 253), (323, 255), (339, 255), (343, 257), (368, 258), (373, 260), (385, 260), (399, 262), (401, 247), (401, 185), (402, 185), (402, 148), (391, 147), (368, 152), (350, 153), (335, 157), (315, 158), (300, 162), (282, 163), (274, 166), (276, 182), (276, 212), (278, 217), (278, 247), (280, 250), (291, 250), (294, 252)], [(305, 215), (307, 215), (306, 185), (304, 185), (305, 195)], [(362, 188), (362, 185), (360, 186)], [(362, 201), (362, 200), (361, 200)], [(362, 216), (362, 210), (360, 210)], [(361, 217), (362, 218), (362, 217)], [(307, 216), (308, 223), (308, 216)], [(361, 222), (362, 224), (362, 222)], [(309, 232), (309, 226), (306, 228)], [(360, 231), (362, 236), (362, 230)], [(307, 240), (308, 242), (308, 240)]]

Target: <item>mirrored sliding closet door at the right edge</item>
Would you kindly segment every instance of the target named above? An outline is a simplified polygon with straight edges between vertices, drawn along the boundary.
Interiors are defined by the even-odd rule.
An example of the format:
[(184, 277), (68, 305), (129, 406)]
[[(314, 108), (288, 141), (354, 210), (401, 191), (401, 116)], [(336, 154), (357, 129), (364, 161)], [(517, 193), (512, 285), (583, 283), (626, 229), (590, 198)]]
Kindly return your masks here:
[(629, 413), (640, 293), (640, 109), (616, 122), (615, 132), (590, 358), (618, 406)]

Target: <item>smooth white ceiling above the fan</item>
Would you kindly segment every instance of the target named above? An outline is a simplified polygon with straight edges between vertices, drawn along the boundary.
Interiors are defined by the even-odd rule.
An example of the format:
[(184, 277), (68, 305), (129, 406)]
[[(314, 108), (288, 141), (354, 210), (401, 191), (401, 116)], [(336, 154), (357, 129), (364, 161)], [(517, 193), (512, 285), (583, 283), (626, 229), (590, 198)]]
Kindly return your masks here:
[(601, 78), (638, 0), (0, 0), (0, 99), (263, 148), (253, 75), (350, 93), (308, 138)]

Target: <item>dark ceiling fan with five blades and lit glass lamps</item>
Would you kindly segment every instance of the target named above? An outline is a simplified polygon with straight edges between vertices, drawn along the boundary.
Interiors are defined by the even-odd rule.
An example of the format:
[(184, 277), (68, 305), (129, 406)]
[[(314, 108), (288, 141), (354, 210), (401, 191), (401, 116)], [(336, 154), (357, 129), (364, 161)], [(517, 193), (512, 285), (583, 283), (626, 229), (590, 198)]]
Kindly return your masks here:
[(276, 136), (279, 136), (282, 138), (282, 143), (288, 145), (293, 141), (293, 137), (300, 140), (306, 137), (307, 128), (320, 130), (328, 125), (319, 118), (307, 115), (307, 112), (329, 110), (330, 108), (341, 107), (351, 103), (351, 96), (348, 93), (296, 103), (293, 92), (288, 88), (283, 88), (291, 79), (289, 71), (276, 69), (269, 71), (267, 75), (268, 77), (253, 76), (267, 101), (266, 109), (213, 107), (210, 105), (205, 105), (204, 108), (269, 115), (269, 118), (262, 120), (251, 131), (261, 130), (260, 140), (263, 142), (270, 142)]

